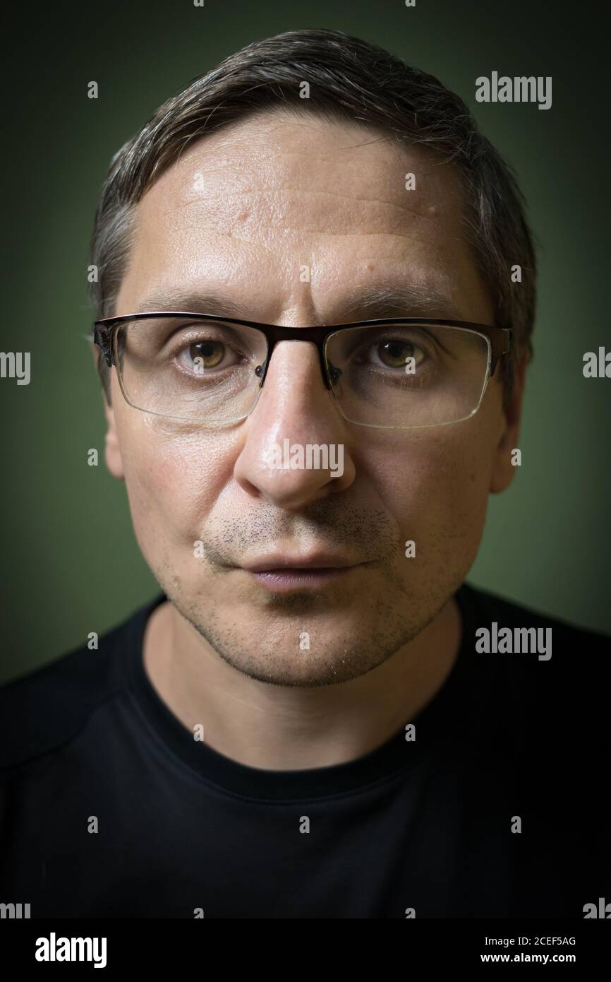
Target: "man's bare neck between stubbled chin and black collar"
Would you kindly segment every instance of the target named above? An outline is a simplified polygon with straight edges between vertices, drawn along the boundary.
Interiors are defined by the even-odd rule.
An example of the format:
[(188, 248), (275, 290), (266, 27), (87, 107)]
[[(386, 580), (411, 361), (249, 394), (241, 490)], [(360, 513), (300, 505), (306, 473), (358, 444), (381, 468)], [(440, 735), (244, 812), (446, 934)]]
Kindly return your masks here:
[(413, 722), (448, 677), (461, 617), (450, 598), (431, 624), (382, 665), (350, 682), (270, 685), (232, 668), (166, 602), (144, 634), (145, 671), (158, 695), (214, 750), (249, 767), (302, 770), (355, 760)]

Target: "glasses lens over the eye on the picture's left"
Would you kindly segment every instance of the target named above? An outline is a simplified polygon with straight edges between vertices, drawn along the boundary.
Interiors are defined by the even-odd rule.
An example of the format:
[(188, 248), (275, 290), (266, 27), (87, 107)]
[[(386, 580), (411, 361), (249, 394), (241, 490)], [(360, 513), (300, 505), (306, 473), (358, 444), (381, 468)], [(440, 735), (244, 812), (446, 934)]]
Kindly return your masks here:
[(265, 336), (255, 328), (188, 317), (142, 317), (115, 335), (115, 361), (136, 409), (194, 421), (247, 416), (259, 396)]

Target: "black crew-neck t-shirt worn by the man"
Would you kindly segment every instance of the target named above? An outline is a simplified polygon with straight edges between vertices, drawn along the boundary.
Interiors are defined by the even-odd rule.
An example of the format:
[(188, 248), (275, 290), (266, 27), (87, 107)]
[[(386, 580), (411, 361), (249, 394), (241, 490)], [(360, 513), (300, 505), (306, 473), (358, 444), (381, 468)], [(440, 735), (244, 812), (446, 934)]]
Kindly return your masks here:
[[(97, 651), (5, 684), (0, 901), (188, 918), (583, 918), (610, 901), (609, 638), (456, 598), (460, 653), (415, 733), (331, 767), (260, 770), (193, 738), (142, 662), (163, 594)], [(551, 657), (477, 651), (482, 627), (551, 627)]]

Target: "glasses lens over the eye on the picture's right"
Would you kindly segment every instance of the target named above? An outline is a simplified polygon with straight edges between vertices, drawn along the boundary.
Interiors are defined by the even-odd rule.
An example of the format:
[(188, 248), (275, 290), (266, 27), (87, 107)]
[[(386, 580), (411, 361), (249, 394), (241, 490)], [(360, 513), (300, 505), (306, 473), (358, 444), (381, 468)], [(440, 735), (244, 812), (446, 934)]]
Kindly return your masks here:
[(328, 338), (326, 356), (333, 393), (349, 421), (432, 426), (478, 409), (489, 342), (475, 331), (440, 324), (353, 327)]

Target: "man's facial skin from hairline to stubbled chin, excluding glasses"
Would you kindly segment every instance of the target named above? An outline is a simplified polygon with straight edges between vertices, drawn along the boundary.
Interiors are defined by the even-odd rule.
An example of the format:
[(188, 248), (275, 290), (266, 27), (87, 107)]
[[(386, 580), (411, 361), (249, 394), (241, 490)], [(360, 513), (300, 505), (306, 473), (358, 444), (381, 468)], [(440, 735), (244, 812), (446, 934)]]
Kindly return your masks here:
[[(158, 309), (147, 299), (168, 291), (226, 297), (253, 321), (340, 324), (359, 319), (367, 291), (418, 286), (440, 296), (436, 312), (368, 308), (363, 318), (452, 316), (445, 299), (455, 316), (490, 324), (462, 201), (455, 172), (430, 150), (260, 114), (193, 144), (144, 195), (115, 312)], [(107, 414), (107, 464), (126, 479), (138, 543), (166, 594), (229, 664), (280, 684), (356, 678), (433, 620), (473, 563), (488, 493), (511, 480), (517, 436), (496, 379), (460, 423), (346, 422), (315, 347), (295, 342), (277, 346), (238, 423), (133, 409), (115, 369)], [(285, 439), (342, 444), (343, 474), (270, 467)], [(244, 569), (298, 559), (351, 568), (282, 589)]]

